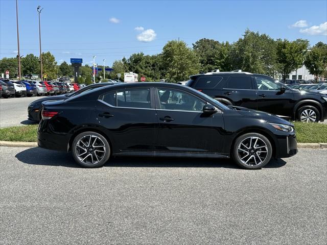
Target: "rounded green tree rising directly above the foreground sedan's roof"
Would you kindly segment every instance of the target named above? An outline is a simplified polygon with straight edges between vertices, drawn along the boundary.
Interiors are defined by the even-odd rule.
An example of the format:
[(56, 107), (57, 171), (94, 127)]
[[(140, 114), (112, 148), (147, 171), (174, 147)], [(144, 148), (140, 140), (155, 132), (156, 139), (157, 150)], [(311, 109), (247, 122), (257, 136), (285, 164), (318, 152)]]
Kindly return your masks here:
[(170, 82), (184, 81), (200, 70), (196, 53), (183, 41), (169, 41), (162, 51), (162, 65)]

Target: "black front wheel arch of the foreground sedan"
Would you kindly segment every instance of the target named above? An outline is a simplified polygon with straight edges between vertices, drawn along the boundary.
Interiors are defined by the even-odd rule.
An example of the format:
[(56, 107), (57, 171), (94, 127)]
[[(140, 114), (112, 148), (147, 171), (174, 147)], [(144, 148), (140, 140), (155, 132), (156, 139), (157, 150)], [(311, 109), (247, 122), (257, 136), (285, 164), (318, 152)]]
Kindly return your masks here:
[(230, 147), (230, 156), (232, 156), (232, 151), (234, 149), (234, 145), (235, 145), (235, 141), (238, 137), (240, 137), (243, 134), (247, 134), (247, 133), (258, 133), (258, 134), (262, 134), (263, 136), (265, 136), (271, 143), (271, 147), (272, 147), (272, 156), (275, 157), (278, 155), (278, 149), (277, 149), (277, 139), (275, 138), (275, 136), (270, 133), (267, 129), (265, 128), (261, 128), (261, 127), (248, 127), (248, 128), (243, 128), (240, 129), (239, 131), (235, 132), (235, 134), (233, 135), (232, 138), (232, 142), (231, 142), (231, 147)]

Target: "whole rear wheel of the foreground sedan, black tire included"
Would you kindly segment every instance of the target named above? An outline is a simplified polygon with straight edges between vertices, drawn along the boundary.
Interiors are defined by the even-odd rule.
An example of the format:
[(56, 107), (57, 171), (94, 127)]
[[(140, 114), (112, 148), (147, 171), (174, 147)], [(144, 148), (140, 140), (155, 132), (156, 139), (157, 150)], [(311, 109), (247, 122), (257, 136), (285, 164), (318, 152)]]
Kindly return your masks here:
[[(90, 140), (90, 143), (87, 142), (87, 140)], [(104, 145), (103, 147), (99, 146), (102, 144)], [(92, 145), (95, 147), (92, 147)], [(86, 152), (83, 153), (84, 151)], [(100, 151), (104, 151), (104, 153), (102, 154)], [(111, 149), (107, 139), (96, 132), (88, 131), (80, 133), (74, 138), (72, 143), (73, 157), (75, 161), (82, 167), (102, 167), (108, 161), (110, 153)], [(82, 158), (84, 158), (84, 161)]]

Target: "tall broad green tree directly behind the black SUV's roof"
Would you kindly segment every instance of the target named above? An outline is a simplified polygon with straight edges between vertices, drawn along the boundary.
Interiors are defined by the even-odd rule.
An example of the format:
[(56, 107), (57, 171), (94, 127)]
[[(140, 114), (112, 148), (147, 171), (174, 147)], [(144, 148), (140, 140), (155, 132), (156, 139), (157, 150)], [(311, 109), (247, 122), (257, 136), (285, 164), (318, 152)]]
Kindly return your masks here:
[(233, 43), (232, 69), (272, 75), (275, 60), (275, 41), (266, 34), (246, 30), (243, 38)]

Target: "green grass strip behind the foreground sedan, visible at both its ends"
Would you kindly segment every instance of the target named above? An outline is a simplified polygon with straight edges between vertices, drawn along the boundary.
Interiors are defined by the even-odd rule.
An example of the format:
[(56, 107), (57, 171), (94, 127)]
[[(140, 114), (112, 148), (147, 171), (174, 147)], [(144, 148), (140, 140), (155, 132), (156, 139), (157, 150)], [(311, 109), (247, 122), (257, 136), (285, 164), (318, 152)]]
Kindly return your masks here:
[[(326, 124), (308, 124), (295, 121), (296, 138), (299, 143), (327, 143)], [(18, 126), (0, 129), (0, 140), (37, 141), (38, 125)]]

